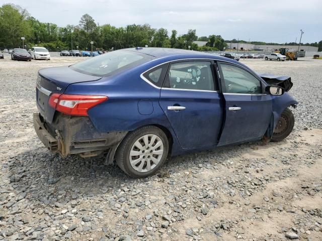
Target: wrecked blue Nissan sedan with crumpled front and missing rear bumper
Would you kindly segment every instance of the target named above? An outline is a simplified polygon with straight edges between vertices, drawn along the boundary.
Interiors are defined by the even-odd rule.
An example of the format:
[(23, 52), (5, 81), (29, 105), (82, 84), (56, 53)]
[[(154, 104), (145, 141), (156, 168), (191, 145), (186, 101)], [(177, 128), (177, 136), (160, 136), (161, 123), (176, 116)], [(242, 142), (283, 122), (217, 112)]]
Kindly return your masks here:
[(167, 157), (292, 131), (288, 76), (258, 75), (221, 56), (132, 48), (39, 70), (34, 127), (62, 157), (103, 156), (132, 177)]

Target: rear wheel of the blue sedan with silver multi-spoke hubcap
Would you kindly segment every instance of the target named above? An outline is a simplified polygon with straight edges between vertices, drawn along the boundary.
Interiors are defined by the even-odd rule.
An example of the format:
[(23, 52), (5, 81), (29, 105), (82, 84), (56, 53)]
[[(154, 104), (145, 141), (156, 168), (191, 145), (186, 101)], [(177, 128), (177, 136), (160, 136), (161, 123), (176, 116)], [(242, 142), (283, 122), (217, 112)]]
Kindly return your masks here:
[(146, 126), (123, 139), (116, 152), (116, 163), (129, 176), (144, 178), (165, 163), (168, 152), (166, 134), (157, 127)]

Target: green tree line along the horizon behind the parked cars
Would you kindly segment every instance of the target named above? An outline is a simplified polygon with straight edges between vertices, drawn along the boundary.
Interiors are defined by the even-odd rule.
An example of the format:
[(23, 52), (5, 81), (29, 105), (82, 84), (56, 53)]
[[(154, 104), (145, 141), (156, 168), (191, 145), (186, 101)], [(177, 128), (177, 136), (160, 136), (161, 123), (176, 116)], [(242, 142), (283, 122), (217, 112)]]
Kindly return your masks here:
[[(3, 5), (0, 7), (0, 48), (23, 47), (21, 37), (25, 37), (24, 44), (27, 49), (37, 45), (52, 51), (76, 49), (76, 46), (80, 50), (91, 50), (91, 41), (94, 42), (93, 49), (104, 50), (144, 47), (145, 45), (199, 51), (222, 51), (228, 47), (220, 35), (198, 38), (195, 29), (190, 29), (187, 34), (178, 36), (176, 30), (168, 33), (167, 29), (154, 29), (148, 24), (132, 24), (117, 28), (110, 24), (99, 25), (88, 14), (82, 16), (77, 26), (58, 27), (53, 23), (40, 22), (18, 5)], [(194, 43), (196, 40), (207, 43), (205, 46), (198, 47)], [(235, 41), (233, 39), (231, 42)], [(247, 43), (239, 41), (239, 43), (244, 42)], [(266, 44), (264, 42), (251, 43)], [(322, 41), (313, 43), (311, 46), (318, 46), (319, 51), (322, 51)]]

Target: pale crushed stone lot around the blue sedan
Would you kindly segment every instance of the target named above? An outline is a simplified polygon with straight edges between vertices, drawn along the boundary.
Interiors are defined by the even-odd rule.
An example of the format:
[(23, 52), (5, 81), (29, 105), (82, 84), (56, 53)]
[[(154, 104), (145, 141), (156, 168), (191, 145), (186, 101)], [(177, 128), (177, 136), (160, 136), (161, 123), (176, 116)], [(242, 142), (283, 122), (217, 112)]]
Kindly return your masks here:
[(133, 179), (50, 154), (34, 132), (37, 71), (84, 59), (0, 60), (0, 240), (322, 240), (322, 60), (240, 60), (292, 77), (286, 140), (175, 157)]

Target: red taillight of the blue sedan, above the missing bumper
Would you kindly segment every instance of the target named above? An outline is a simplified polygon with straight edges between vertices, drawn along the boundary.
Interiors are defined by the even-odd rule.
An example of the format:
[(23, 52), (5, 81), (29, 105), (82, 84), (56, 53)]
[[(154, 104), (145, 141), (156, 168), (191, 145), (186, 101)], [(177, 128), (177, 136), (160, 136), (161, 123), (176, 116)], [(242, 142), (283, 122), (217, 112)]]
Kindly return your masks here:
[(57, 111), (70, 115), (88, 115), (87, 111), (107, 100), (102, 95), (58, 94), (50, 96), (48, 103)]

